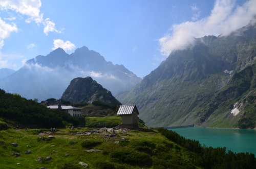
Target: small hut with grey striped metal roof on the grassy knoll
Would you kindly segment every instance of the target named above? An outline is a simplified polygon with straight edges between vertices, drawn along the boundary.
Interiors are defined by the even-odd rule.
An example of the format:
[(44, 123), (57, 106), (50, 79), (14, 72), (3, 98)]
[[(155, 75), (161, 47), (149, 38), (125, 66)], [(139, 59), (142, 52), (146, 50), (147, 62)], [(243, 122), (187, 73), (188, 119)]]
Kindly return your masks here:
[(121, 105), (117, 115), (122, 117), (122, 124), (118, 128), (137, 128), (139, 111), (136, 105)]

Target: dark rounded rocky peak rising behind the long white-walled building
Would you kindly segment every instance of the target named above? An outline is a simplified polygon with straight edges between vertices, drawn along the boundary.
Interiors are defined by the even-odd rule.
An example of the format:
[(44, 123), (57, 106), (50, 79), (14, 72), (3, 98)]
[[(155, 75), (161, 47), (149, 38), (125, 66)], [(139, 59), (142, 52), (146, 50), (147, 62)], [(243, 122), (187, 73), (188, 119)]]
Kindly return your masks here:
[(92, 104), (94, 101), (101, 101), (106, 104), (120, 105), (109, 90), (103, 88), (91, 77), (73, 79), (61, 99), (72, 103)]

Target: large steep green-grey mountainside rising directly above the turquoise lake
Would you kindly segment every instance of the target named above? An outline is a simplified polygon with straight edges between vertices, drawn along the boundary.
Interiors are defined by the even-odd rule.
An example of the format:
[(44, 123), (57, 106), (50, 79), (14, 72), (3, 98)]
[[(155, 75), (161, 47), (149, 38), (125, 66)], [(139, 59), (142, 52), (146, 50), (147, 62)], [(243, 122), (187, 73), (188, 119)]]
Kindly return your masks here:
[[(253, 110), (247, 111), (244, 104), (234, 116), (233, 105), (247, 95), (255, 105), (255, 71), (236, 78), (255, 66), (255, 20), (229, 36), (205, 36), (195, 39), (186, 50), (173, 51), (141, 83), (119, 93), (117, 99), (136, 104), (140, 118), (149, 126), (238, 126), (239, 119)], [(244, 84), (247, 86), (242, 89)]]

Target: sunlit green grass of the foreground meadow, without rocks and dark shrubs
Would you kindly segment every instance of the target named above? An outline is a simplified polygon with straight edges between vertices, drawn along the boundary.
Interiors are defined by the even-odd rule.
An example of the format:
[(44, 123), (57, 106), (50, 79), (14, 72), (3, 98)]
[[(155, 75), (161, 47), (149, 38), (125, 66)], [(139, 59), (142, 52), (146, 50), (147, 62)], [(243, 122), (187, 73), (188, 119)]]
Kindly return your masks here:
[[(82, 128), (77, 131), (84, 131)], [(42, 130), (43, 131), (43, 130)], [(61, 132), (61, 134), (60, 134)], [(79, 168), (79, 161), (85, 162), (90, 168), (104, 168), (104, 166), (114, 166), (115, 168), (161, 168), (161, 158), (169, 160), (170, 166), (195, 166), (191, 160), (190, 152), (179, 147), (176, 143), (167, 140), (157, 132), (129, 131), (128, 133), (118, 133), (119, 137), (105, 138), (102, 134), (78, 135), (72, 134), (70, 129), (61, 129), (58, 133), (53, 133), (55, 138), (43, 141), (38, 139), (38, 130), (2, 130), (0, 131), (0, 166), (1, 168)], [(44, 136), (47, 137), (47, 136)], [(121, 138), (126, 138), (123, 144)], [(81, 143), (84, 140), (97, 140), (93, 149), (102, 150), (102, 152), (87, 152), (87, 148), (82, 148)], [(12, 142), (17, 142), (18, 147), (13, 147)], [(167, 144), (173, 145), (166, 147)], [(142, 148), (141, 148), (142, 147)], [(91, 148), (91, 147), (90, 147)], [(25, 154), (26, 150), (31, 150), (31, 154)], [(130, 154), (125, 156), (125, 160), (116, 161), (111, 156), (112, 152), (122, 152), (129, 150)], [(150, 150), (151, 153), (145, 150)], [(13, 157), (13, 153), (19, 153), (20, 157)], [(66, 156), (68, 153), (69, 156)], [(45, 159), (52, 157), (50, 161), (38, 162), (37, 157)], [(146, 160), (138, 163), (134, 157), (145, 157)], [(149, 161), (147, 163), (146, 161)], [(168, 161), (167, 160), (167, 161)], [(172, 162), (170, 162), (172, 161)], [(103, 162), (103, 163), (99, 163)], [(20, 165), (17, 165), (20, 163)], [(82, 167), (80, 167), (82, 168)], [(189, 167), (188, 167), (189, 168)], [(191, 168), (191, 167), (190, 167)]]

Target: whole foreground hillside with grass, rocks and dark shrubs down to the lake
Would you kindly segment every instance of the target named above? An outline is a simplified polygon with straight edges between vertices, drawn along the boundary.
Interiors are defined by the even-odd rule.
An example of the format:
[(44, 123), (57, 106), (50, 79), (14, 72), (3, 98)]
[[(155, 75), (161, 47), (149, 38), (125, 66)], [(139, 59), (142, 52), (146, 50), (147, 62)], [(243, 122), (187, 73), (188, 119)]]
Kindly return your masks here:
[[(206, 148), (166, 129), (0, 130), (1, 168), (253, 168), (253, 154)], [(49, 137), (48, 135), (51, 135)], [(17, 143), (17, 144), (12, 144)]]

